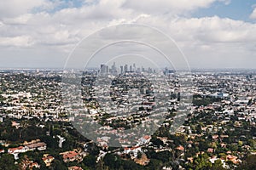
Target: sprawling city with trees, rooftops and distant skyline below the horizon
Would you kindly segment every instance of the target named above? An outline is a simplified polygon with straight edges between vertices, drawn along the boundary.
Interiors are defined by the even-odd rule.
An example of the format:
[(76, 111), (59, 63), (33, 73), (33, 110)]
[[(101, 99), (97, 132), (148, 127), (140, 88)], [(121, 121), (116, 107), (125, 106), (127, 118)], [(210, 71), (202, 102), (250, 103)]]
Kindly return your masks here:
[(255, 71), (100, 65), (67, 98), (82, 105), (63, 74), (0, 71), (0, 169), (256, 167)]

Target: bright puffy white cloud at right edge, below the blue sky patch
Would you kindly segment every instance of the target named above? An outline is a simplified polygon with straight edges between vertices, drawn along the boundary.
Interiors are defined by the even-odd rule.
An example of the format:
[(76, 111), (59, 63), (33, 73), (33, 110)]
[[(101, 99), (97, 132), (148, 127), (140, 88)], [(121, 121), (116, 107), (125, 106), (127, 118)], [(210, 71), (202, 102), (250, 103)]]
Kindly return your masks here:
[[(191, 41), (201, 42), (253, 42), (256, 41), (256, 25), (241, 20), (205, 17), (181, 19), (173, 25), (175, 32)], [(186, 34), (184, 34), (186, 32)], [(184, 38), (184, 37), (183, 37)]]

